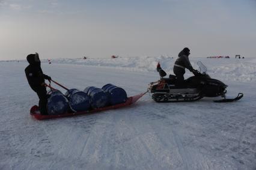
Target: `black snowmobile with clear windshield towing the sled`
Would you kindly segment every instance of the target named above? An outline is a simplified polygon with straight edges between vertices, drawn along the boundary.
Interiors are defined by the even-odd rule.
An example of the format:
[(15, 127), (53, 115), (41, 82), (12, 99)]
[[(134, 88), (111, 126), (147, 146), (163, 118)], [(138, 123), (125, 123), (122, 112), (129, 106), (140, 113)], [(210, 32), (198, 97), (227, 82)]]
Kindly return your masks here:
[(214, 102), (234, 102), (243, 97), (243, 94), (239, 93), (234, 99), (226, 99), (228, 85), (206, 74), (207, 68), (202, 62), (198, 61), (197, 64), (200, 71), (197, 70), (195, 76), (184, 80), (184, 87), (177, 87), (175, 85), (177, 77), (170, 74), (166, 78), (166, 72), (157, 67), (160, 80), (151, 82), (148, 87), (152, 99), (156, 102), (192, 102), (203, 97), (222, 97), (223, 99)]

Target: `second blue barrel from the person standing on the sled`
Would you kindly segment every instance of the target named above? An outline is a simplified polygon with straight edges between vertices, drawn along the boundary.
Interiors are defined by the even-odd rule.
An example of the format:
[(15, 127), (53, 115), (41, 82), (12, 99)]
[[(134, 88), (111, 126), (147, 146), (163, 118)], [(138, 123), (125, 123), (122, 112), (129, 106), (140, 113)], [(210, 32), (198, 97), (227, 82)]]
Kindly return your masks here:
[(73, 88), (67, 91), (65, 96), (69, 99), (69, 106), (73, 112), (88, 111), (91, 107), (90, 96), (84, 93), (84, 91)]

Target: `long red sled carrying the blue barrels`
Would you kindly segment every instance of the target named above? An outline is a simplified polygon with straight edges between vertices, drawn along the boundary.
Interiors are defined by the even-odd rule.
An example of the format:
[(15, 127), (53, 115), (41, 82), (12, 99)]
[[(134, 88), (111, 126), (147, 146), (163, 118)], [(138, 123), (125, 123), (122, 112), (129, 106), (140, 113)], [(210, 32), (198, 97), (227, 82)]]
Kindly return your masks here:
[(84, 111), (84, 112), (67, 113), (62, 115), (41, 115), (36, 112), (38, 111), (38, 106), (35, 105), (35, 106), (32, 106), (32, 108), (30, 109), (30, 115), (37, 120), (46, 120), (46, 119), (52, 119), (52, 118), (62, 118), (62, 117), (72, 117), (76, 115), (92, 114), (94, 112), (100, 112), (100, 111), (108, 111), (111, 109), (118, 109), (118, 108), (123, 108), (125, 106), (132, 105), (133, 103), (137, 102), (142, 96), (144, 96), (144, 94), (146, 93), (147, 92), (138, 94), (136, 96), (128, 97), (125, 103), (121, 103), (118, 105), (107, 106), (105, 108), (93, 109), (93, 110)]

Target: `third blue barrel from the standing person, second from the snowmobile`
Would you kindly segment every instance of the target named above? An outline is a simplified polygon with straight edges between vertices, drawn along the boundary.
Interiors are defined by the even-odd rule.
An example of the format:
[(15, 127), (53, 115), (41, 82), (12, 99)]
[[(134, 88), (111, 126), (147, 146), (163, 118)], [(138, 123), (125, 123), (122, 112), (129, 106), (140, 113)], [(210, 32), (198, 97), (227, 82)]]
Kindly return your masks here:
[(87, 87), (85, 88), (84, 92), (91, 97), (92, 108), (103, 108), (109, 105), (109, 97), (101, 88)]

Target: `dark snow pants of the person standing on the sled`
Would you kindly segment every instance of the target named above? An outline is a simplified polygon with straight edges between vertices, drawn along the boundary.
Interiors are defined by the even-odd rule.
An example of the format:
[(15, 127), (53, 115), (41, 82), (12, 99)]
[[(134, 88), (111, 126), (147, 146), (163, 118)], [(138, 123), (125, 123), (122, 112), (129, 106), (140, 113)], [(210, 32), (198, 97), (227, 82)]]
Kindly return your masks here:
[(47, 105), (47, 91), (46, 87), (39, 87), (36, 88), (35, 93), (37, 93), (37, 96), (39, 98), (39, 111), (41, 115), (47, 115), (46, 105)]

